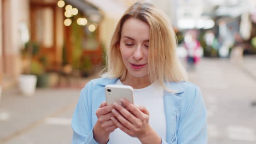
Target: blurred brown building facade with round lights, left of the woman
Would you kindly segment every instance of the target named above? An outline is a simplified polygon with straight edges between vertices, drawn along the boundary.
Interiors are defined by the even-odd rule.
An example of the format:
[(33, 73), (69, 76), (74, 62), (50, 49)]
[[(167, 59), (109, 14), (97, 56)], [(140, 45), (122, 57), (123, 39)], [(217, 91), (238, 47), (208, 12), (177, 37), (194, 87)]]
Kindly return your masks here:
[[(102, 61), (101, 11), (86, 1), (62, 2), (59, 5), (58, 0), (0, 1), (0, 86), (3, 89), (16, 87), (24, 67), (31, 65), (35, 73), (60, 73), (63, 65), (87, 70)], [(67, 10), (67, 5), (71, 9)], [(28, 63), (24, 51), (30, 46), (32, 56)]]

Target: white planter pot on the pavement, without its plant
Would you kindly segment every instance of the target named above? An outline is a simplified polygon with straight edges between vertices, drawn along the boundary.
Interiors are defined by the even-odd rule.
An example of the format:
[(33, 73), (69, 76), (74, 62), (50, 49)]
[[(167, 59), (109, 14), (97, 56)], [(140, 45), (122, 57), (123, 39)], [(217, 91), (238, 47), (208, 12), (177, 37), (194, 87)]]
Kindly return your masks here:
[(20, 75), (19, 88), (23, 95), (31, 96), (36, 91), (37, 77), (36, 75)]

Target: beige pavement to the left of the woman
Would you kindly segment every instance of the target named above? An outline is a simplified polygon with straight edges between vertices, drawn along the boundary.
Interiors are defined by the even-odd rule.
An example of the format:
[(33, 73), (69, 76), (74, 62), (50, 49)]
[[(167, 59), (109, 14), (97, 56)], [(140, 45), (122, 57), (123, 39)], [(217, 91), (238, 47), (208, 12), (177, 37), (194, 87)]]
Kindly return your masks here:
[(0, 143), (71, 143), (71, 117), (80, 91), (96, 77), (73, 80), (80, 85), (72, 88), (38, 88), (31, 97), (21, 95), (18, 89), (3, 92)]

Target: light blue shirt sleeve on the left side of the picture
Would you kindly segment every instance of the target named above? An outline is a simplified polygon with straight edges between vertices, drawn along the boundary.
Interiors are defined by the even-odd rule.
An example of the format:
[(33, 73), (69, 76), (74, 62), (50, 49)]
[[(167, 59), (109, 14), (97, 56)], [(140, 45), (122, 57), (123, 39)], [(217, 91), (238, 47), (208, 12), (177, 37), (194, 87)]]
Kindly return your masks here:
[(72, 117), (72, 144), (96, 144), (91, 120), (91, 98), (89, 86), (81, 91)]

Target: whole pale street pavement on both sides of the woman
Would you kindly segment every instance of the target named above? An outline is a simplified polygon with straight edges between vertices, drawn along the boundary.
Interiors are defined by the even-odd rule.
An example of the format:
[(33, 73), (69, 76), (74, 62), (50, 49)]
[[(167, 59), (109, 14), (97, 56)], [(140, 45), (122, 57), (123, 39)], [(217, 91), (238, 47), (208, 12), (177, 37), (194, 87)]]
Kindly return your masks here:
[[(201, 88), (208, 111), (209, 144), (256, 143), (256, 56), (243, 59), (244, 67), (228, 59), (202, 59), (190, 81)], [(81, 88), (37, 89), (24, 97), (17, 89), (3, 92), (0, 101), (0, 143), (71, 143), (71, 118)], [(79, 82), (78, 80), (75, 82)], [(83, 86), (82, 86), (83, 85)]]

